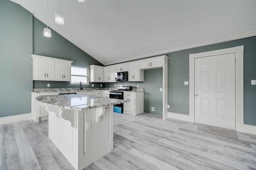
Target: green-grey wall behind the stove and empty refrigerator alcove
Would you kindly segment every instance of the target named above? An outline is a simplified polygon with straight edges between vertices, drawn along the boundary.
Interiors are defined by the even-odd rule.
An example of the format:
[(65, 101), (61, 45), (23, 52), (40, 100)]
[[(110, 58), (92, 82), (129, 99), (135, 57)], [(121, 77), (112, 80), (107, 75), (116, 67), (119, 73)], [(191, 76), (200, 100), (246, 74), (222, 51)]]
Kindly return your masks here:
[[(114, 82), (105, 83), (105, 87), (116, 88), (118, 85), (127, 84), (132, 88), (144, 88), (144, 112), (155, 115), (163, 115), (163, 92), (160, 88), (163, 87), (163, 69), (144, 70), (144, 82)], [(138, 104), (138, 103), (137, 103)], [(151, 107), (155, 107), (155, 111), (151, 111)]]

